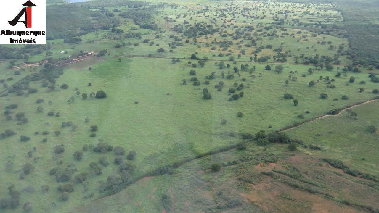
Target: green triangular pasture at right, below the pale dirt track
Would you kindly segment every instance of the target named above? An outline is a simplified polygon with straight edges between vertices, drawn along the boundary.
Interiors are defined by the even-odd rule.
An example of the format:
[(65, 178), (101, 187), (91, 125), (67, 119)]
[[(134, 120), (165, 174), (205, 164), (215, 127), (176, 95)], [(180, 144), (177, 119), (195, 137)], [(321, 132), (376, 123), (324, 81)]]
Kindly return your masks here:
[[(339, 159), (355, 168), (378, 175), (378, 133), (370, 133), (371, 125), (379, 126), (378, 101), (351, 108), (358, 113), (348, 117), (343, 111), (340, 116), (328, 116), (287, 131), (305, 143), (323, 147), (318, 155)], [(317, 135), (320, 136), (317, 136)]]

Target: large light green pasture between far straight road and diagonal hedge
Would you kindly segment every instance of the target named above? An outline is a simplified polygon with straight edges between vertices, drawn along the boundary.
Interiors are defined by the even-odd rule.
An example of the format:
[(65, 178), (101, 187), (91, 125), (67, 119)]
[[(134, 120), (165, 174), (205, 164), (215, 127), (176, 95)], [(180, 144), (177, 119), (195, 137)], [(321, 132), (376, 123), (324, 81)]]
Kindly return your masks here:
[[(122, 146), (125, 150), (135, 150), (137, 152), (136, 159), (133, 163), (138, 165), (135, 171), (135, 177), (144, 175), (146, 172), (159, 165), (173, 163), (177, 160), (192, 157), (198, 153), (208, 152), (222, 146), (236, 144), (240, 139), (240, 133), (255, 133), (258, 130), (270, 131), (269, 125), (273, 126), (273, 130), (281, 128), (294, 122), (302, 121), (297, 117), (298, 114), (304, 114), (305, 118), (317, 116), (326, 113), (332, 108), (344, 107), (358, 101), (363, 101), (374, 97), (371, 93), (377, 84), (370, 82), (367, 74), (354, 75), (356, 81), (366, 80), (366, 91), (360, 93), (357, 82), (349, 86), (345, 86), (348, 78), (336, 78), (333, 83), (337, 88), (330, 89), (325, 83), (318, 83), (317, 87), (310, 88), (308, 81), (315, 80), (319, 75), (330, 75), (331, 78), (336, 72), (322, 72), (320, 74), (307, 75), (306, 69), (302, 65), (285, 66), (282, 74), (277, 74), (273, 70), (266, 71), (266, 64), (256, 64), (256, 78), (253, 80), (247, 72), (241, 72), (241, 77), (237, 76), (233, 80), (221, 78), (221, 70), (208, 61), (204, 68), (196, 69), (196, 77), (201, 83), (205, 79), (205, 75), (216, 72), (216, 79), (210, 80), (209, 85), (193, 86), (189, 80), (189, 70), (193, 69), (186, 66), (183, 70), (183, 63), (172, 64), (170, 59), (159, 58), (128, 58), (119, 57), (110, 59), (90, 58), (84, 62), (69, 65), (64, 74), (57, 79), (57, 85), (67, 83), (68, 89), (60, 89), (56, 91), (46, 92), (45, 88), (41, 88), (39, 82), (31, 82), (30, 87), (39, 89), (36, 94), (30, 94), (29, 97), (18, 97), (11, 94), (3, 97), (1, 108), (11, 103), (18, 103), (19, 107), (16, 112), (26, 112), (25, 117), (29, 119), (27, 124), (17, 125), (17, 121), (5, 121), (5, 117), (1, 118), (0, 130), (11, 128), (17, 132), (16, 136), (12, 136), (2, 140), (1, 155), (3, 161), (13, 161), (13, 169), (11, 172), (3, 171), (6, 177), (2, 180), (3, 186), (16, 183), (19, 187), (33, 185), (36, 188), (35, 193), (42, 194), (39, 191), (41, 185), (50, 185), (49, 192), (41, 196), (50, 197), (44, 202), (39, 202), (37, 196), (21, 196), (20, 202), (33, 202), (36, 209), (47, 209), (54, 211), (50, 207), (51, 202), (56, 201), (60, 193), (56, 190), (54, 176), (49, 176), (49, 169), (60, 166), (66, 167), (70, 163), (74, 163), (78, 172), (89, 172), (88, 164), (91, 161), (97, 161), (102, 154), (84, 152), (83, 160), (74, 161), (72, 154), (76, 150), (81, 150), (84, 144), (98, 143), (98, 139), (102, 138), (105, 143), (113, 146)], [(196, 62), (196, 61), (194, 61)], [(84, 66), (81, 63), (85, 63)], [(147, 66), (146, 64), (149, 64)], [(239, 64), (238, 64), (239, 65)], [(251, 63), (250, 66), (252, 66)], [(255, 65), (255, 64), (254, 64)], [(92, 70), (89, 71), (88, 67)], [(290, 81), (289, 85), (285, 85), (290, 70), (298, 70), (298, 80)], [(228, 69), (224, 69), (228, 72)], [(233, 72), (232, 69), (229, 71)], [(258, 77), (261, 72), (262, 77)], [(242, 81), (242, 78), (247, 78)], [(187, 85), (181, 85), (180, 81), (187, 79)], [(219, 92), (214, 86), (218, 81), (224, 81), (224, 89)], [(87, 84), (91, 82), (92, 87)], [(244, 83), (244, 97), (236, 101), (228, 101), (230, 95), (229, 88), (235, 88), (234, 82)], [(250, 87), (247, 86), (250, 84)], [(75, 95), (74, 88), (77, 87), (81, 93), (96, 92), (100, 89), (107, 93), (106, 99), (82, 100), (80, 96)], [(208, 88), (212, 94), (212, 99), (202, 99), (202, 88)], [(295, 99), (299, 100), (299, 105), (295, 107), (292, 100), (283, 99), (284, 93), (292, 93)], [(329, 94), (326, 100), (319, 98), (319, 93)], [(340, 97), (347, 95), (349, 100), (341, 100)], [(74, 96), (74, 102), (67, 100)], [(333, 98), (338, 101), (333, 101)], [(36, 99), (44, 99), (44, 103), (36, 103)], [(52, 100), (52, 104), (47, 102)], [(138, 102), (136, 104), (135, 102)], [(334, 107), (331, 105), (334, 104)], [(37, 113), (36, 108), (41, 106), (44, 108), (42, 113)], [(309, 110), (309, 114), (305, 111)], [(48, 111), (60, 112), (60, 117), (47, 116)], [(242, 111), (244, 116), (238, 118), (237, 111)], [(15, 114), (13, 113), (13, 115)], [(360, 114), (358, 112), (358, 114)], [(88, 117), (89, 123), (85, 123), (84, 119)], [(359, 117), (358, 117), (359, 118)], [(222, 125), (221, 119), (226, 119), (227, 124)], [(75, 132), (70, 127), (61, 128), (61, 122), (72, 121), (78, 126)], [(351, 121), (356, 121), (352, 119)], [(359, 120), (358, 120), (359, 121)], [(97, 136), (90, 138), (89, 126), (96, 124), (99, 126)], [(60, 136), (55, 136), (54, 131), (62, 131)], [(34, 132), (40, 132), (34, 135)], [(49, 131), (49, 135), (41, 135), (41, 132)], [(21, 135), (30, 136), (28, 142), (20, 142)], [(234, 136), (233, 136), (234, 135)], [(42, 143), (42, 139), (47, 138), (46, 143)], [(17, 146), (13, 146), (17, 144)], [(63, 144), (65, 152), (60, 155), (53, 153), (55, 145)], [(25, 177), (27, 182), (19, 180), (21, 166), (33, 161), (26, 153), (36, 147), (33, 156), (41, 156), (38, 163), (33, 163), (36, 168)], [(16, 155), (16, 156), (13, 156)], [(103, 167), (103, 174), (96, 176), (91, 175), (89, 182), (89, 192), (95, 193), (95, 198), (99, 197), (96, 190), (96, 182), (117, 171), (117, 166), (113, 164), (113, 153), (103, 154), (108, 157), (111, 165)], [(63, 160), (63, 165), (57, 164), (57, 161)], [(368, 162), (368, 161), (367, 161)], [(72, 166), (72, 165), (71, 165)], [(4, 169), (5, 170), (5, 169)], [(73, 176), (74, 176), (73, 175)], [(34, 183), (34, 184), (33, 184)], [(81, 196), (82, 186), (75, 184), (75, 191), (70, 193), (70, 199), (63, 205), (60, 205), (60, 211), (69, 207), (85, 204), (85, 199), (73, 199)], [(88, 193), (89, 193), (88, 192)], [(1, 190), (3, 196), (6, 195), (6, 188)], [(68, 204), (68, 205), (67, 205)], [(64, 210), (64, 211), (66, 211)]]

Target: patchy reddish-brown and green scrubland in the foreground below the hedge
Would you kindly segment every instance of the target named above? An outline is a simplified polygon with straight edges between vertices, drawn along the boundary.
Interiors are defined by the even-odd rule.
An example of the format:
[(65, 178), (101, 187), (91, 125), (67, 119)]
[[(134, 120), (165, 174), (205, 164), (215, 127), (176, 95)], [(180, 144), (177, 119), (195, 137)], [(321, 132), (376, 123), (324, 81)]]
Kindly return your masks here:
[[(207, 161), (207, 159), (202, 159)], [(196, 160), (198, 161), (198, 160)], [(191, 162), (200, 164), (199, 162)], [(174, 175), (161, 175), (144, 178), (116, 194), (114, 197), (96, 201), (75, 212), (108, 206), (112, 200), (128, 197), (122, 211), (153, 210), (152, 212), (370, 212), (344, 204), (349, 200), (378, 208), (379, 188), (370, 180), (343, 174), (315, 155), (299, 154), (277, 163), (257, 163), (247, 161), (225, 166), (219, 172), (209, 169), (188, 171), (191, 165), (183, 165)], [(289, 168), (296, 168), (291, 173)], [(293, 176), (274, 172), (273, 176), (262, 172), (287, 171)], [(292, 172), (293, 172), (292, 171)], [(298, 174), (298, 175), (296, 175)], [(302, 174), (302, 175), (299, 175)], [(338, 175), (340, 174), (340, 175)], [(310, 193), (289, 183), (304, 188), (313, 188), (318, 193)], [(310, 184), (311, 183), (311, 184)], [(372, 184), (371, 186), (368, 186)], [(138, 191), (136, 189), (138, 188)], [(321, 194), (328, 193), (328, 196)], [(137, 193), (137, 194), (135, 194)], [(171, 197), (172, 208), (165, 210), (160, 196), (166, 193)], [(142, 200), (142, 202), (141, 202)], [(149, 200), (148, 204), (146, 200)], [(238, 204), (232, 205), (231, 203)], [(146, 206), (147, 204), (147, 206)], [(91, 208), (89, 208), (91, 207)], [(108, 206), (109, 207), (109, 206)]]

